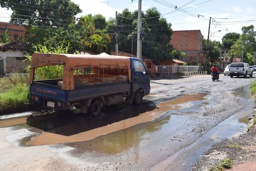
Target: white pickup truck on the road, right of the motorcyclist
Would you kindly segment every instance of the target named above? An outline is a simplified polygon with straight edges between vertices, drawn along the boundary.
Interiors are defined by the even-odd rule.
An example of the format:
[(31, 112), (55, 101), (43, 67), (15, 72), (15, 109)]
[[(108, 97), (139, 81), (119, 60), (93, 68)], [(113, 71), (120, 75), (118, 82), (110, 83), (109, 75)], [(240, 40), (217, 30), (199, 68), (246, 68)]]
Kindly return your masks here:
[(239, 77), (240, 75), (243, 75), (244, 78), (247, 77), (247, 75), (250, 75), (250, 77), (253, 77), (253, 68), (249, 67), (249, 64), (243, 63), (243, 62), (233, 62), (230, 64), (230, 77), (233, 78), (233, 76)]

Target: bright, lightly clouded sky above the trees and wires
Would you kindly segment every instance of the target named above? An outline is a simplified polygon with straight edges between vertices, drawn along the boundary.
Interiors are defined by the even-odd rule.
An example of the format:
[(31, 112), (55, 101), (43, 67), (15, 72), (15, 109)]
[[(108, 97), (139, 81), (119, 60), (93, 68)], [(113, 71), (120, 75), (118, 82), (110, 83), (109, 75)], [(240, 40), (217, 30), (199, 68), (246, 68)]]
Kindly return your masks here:
[[(138, 0), (133, 0), (133, 2), (131, 0), (71, 1), (78, 4), (83, 11), (77, 14), (77, 17), (86, 14), (102, 14), (108, 19), (109, 17), (115, 17), (116, 11), (122, 12), (125, 8), (130, 11), (138, 9)], [(186, 13), (189, 12), (191, 15), (180, 10), (166, 14), (173, 11), (173, 7), (165, 6), (156, 1), (171, 4), (169, 6), (177, 6), (177, 9), (183, 6), (180, 9), (186, 10)], [(251, 24), (254, 25), (256, 30), (256, 0), (142, 0), (143, 11), (151, 7), (156, 7), (161, 14), (166, 14), (162, 17), (172, 23), (173, 30), (201, 30), (204, 38), (207, 38), (208, 35), (209, 17), (214, 18), (216, 22), (211, 24), (210, 40), (221, 41), (221, 38), (226, 33), (241, 33), (242, 26)], [(11, 13), (10, 10), (1, 9), (0, 21), (8, 22)], [(201, 16), (199, 18), (195, 17), (198, 14)]]

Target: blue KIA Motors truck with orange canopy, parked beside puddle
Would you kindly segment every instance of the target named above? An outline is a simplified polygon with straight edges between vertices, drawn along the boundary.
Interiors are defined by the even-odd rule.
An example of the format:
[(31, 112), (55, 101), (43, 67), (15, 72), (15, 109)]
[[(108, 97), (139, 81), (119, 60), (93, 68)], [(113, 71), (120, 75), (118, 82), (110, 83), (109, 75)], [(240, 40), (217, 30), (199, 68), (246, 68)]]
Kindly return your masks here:
[[(37, 80), (37, 68), (63, 66), (63, 77)], [(97, 116), (102, 106), (140, 104), (150, 93), (150, 70), (137, 58), (34, 53), (30, 99), (55, 110), (73, 106)]]

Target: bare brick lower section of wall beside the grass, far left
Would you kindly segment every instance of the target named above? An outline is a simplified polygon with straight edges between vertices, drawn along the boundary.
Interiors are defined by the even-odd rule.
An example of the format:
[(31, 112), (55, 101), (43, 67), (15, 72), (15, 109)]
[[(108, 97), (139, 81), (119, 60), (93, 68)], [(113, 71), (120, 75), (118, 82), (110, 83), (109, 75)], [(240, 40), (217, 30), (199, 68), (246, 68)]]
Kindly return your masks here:
[[(17, 57), (19, 58), (19, 57)], [(6, 73), (22, 73), (24, 72), (28, 62), (24, 62), (22, 59), (16, 59), (16, 57), (6, 58)]]

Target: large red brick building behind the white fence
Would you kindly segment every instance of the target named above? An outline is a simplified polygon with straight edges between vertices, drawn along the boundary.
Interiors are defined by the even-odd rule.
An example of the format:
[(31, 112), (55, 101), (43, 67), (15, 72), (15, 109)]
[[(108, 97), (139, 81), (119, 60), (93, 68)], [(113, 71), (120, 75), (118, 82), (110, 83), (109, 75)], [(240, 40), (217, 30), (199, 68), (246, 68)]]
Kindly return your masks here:
[(169, 44), (186, 53), (182, 61), (188, 64), (205, 63), (203, 35), (200, 30), (173, 31)]

